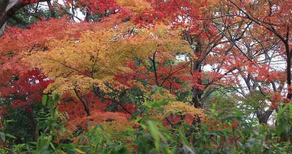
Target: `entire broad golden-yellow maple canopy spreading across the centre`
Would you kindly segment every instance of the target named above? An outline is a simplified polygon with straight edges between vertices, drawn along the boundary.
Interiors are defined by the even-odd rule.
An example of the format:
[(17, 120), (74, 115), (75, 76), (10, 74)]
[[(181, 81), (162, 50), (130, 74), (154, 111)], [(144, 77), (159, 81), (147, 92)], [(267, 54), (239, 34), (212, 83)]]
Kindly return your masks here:
[[(78, 38), (66, 37), (54, 40), (46, 46), (48, 50), (32, 54), (25, 60), (33, 67), (42, 68), (50, 79), (55, 80), (46, 92), (64, 94), (77, 89), (83, 93), (93, 85), (108, 92), (105, 83), (122, 89), (112, 77), (117, 72), (127, 73), (127, 61), (139, 58), (148, 60), (155, 51), (192, 52), (179, 32), (169, 26), (135, 28), (131, 23), (111, 28), (96, 28), (85, 31)], [(129, 31), (131, 30), (131, 32)]]

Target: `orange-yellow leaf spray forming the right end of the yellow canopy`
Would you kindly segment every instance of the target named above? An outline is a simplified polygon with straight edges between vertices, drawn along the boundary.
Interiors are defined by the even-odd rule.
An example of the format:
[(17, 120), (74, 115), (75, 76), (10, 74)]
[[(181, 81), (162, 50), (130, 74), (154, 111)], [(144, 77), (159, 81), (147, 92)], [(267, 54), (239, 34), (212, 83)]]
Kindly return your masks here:
[(133, 36), (122, 40), (117, 50), (146, 60), (148, 57), (157, 52), (176, 52), (193, 53), (192, 48), (187, 41), (181, 40), (179, 31), (171, 30), (169, 26), (156, 25), (150, 29), (135, 29)]

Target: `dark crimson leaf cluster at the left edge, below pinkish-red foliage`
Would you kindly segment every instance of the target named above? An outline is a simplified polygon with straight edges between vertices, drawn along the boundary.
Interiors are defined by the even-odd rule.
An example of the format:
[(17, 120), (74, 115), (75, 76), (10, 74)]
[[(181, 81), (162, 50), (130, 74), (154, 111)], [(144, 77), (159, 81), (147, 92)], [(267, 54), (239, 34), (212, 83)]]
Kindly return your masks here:
[[(14, 109), (27, 108), (26, 111), (31, 111), (30, 106), (42, 100), (43, 90), (52, 81), (39, 69), (29, 70), (21, 76), (17, 75), (17, 72), (10, 70), (6, 75), (0, 76), (1, 97), (12, 97), (11, 106)], [(11, 76), (18, 79), (13, 80)], [(0, 114), (4, 113), (6, 113), (6, 107), (2, 106)]]

